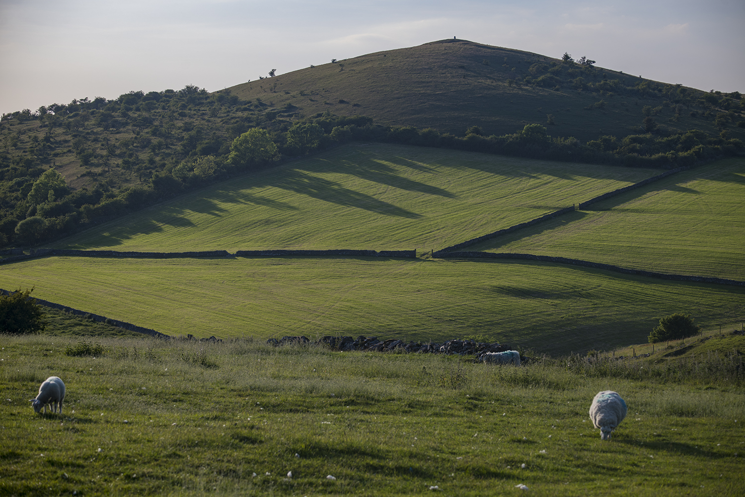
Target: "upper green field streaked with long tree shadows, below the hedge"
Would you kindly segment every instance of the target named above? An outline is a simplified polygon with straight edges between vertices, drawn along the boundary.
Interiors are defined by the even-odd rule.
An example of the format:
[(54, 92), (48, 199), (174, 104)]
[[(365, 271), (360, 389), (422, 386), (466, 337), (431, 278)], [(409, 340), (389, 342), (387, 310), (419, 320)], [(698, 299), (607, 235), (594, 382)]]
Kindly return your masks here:
[(191, 192), (54, 247), (438, 250), (659, 172), (351, 144)]

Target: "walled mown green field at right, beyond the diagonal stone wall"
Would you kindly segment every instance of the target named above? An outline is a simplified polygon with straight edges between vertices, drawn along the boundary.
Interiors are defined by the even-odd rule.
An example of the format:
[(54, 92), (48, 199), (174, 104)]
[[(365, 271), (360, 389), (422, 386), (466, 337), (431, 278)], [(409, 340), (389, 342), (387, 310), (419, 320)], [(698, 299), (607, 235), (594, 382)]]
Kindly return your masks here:
[(468, 250), (745, 280), (745, 159), (683, 171)]

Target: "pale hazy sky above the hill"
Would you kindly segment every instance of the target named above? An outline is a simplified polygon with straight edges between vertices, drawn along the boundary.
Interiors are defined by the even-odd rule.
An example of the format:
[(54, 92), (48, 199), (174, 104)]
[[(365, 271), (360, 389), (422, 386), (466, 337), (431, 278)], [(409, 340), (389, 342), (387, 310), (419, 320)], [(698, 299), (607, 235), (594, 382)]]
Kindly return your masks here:
[(745, 93), (743, 0), (0, 0), (0, 113), (457, 37)]

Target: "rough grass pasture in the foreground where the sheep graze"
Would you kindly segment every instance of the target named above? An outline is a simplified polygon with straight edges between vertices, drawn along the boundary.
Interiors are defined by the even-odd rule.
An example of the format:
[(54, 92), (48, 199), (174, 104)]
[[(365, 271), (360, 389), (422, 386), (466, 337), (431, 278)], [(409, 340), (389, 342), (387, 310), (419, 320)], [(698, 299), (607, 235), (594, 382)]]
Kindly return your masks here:
[[(65, 355), (78, 338), (0, 341), (4, 495), (745, 490), (740, 382), (588, 378), (558, 363), (488, 367), (252, 341), (101, 338), (106, 352), (95, 358)], [(67, 384), (64, 414), (34, 414), (27, 399), (50, 375)], [(608, 388), (630, 413), (603, 443), (587, 409)]]

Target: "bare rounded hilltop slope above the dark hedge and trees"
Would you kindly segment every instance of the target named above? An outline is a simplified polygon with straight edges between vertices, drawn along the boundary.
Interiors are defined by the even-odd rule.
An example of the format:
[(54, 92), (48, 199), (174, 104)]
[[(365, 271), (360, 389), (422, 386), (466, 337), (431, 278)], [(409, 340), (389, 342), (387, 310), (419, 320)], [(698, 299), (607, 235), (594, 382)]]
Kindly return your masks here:
[[(714, 113), (698, 108), (706, 104), (700, 90), (461, 39), (361, 55), (229, 89), (243, 100), (259, 98), (305, 116), (361, 114), (379, 124), (460, 136), (474, 125), (499, 135), (539, 123), (548, 124), (552, 136), (621, 137), (640, 132), (647, 106), (645, 112), (671, 130), (719, 133)], [(740, 95), (733, 98), (732, 106), (723, 105), (736, 108), (730, 121), (738, 121)], [(745, 137), (744, 128), (730, 133)]]

